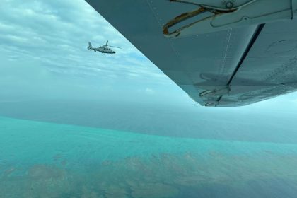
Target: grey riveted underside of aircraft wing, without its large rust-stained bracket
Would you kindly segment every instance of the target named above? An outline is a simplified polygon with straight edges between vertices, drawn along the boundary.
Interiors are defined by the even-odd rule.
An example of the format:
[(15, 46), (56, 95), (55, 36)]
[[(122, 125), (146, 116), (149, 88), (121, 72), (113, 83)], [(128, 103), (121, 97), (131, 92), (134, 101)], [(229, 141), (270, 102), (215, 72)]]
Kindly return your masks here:
[[(273, 8), (272, 4), (254, 6), (253, 10), (257, 10), (262, 18), (257, 21), (254, 17), (252, 23), (217, 25), (223, 28), (216, 30), (211, 28), (217, 23), (209, 23), (212, 25), (209, 29), (203, 28), (202, 24), (200, 29), (186, 28), (180, 36), (172, 37), (165, 35), (170, 28), (164, 30), (164, 25), (184, 17), (182, 13), (197, 13), (198, 0), (192, 0), (194, 3), (176, 0), (86, 1), (201, 105), (248, 105), (297, 89), (297, 21), (281, 17), (277, 11), (269, 17), (260, 13), (266, 11), (265, 5)], [(250, 2), (252, 5), (255, 1)], [(277, 2), (288, 4), (277, 5), (281, 4)], [(283, 15), (293, 13), (293, 4), (289, 1), (274, 3), (277, 8), (291, 6), (291, 9), (283, 8)], [(220, 13), (224, 16), (241, 11), (244, 9)], [(210, 14), (216, 13), (219, 11)], [(250, 13), (253, 12), (247, 11), (247, 15)], [(207, 18), (208, 14), (181, 20), (175, 30)]]

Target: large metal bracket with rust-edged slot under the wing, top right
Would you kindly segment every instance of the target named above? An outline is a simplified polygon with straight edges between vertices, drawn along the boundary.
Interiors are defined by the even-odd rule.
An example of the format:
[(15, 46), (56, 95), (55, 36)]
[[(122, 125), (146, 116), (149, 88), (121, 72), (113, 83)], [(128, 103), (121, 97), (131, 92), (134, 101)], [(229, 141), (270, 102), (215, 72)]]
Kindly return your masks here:
[[(297, 0), (170, 0), (170, 2), (198, 6), (194, 11), (182, 13), (163, 25), (163, 35), (170, 38), (289, 20), (297, 13)], [(176, 30), (169, 30), (182, 21), (202, 16), (203, 13), (212, 13), (212, 15), (183, 25)]]

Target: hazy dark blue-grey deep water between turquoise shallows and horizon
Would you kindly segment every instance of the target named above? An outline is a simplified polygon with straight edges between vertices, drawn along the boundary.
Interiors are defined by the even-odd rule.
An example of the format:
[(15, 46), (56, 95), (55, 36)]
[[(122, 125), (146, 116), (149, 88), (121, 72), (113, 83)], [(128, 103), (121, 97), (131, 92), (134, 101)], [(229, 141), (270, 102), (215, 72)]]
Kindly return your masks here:
[(42, 100), (0, 103), (0, 116), (141, 134), (297, 144), (297, 113), (240, 107)]

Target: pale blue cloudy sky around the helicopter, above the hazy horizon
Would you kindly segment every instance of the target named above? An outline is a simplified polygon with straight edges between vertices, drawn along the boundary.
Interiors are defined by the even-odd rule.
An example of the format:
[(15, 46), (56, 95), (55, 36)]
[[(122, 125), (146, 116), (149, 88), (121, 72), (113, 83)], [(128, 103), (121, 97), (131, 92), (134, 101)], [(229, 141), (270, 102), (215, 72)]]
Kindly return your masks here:
[[(199, 107), (86, 1), (4, 0), (0, 6), (0, 102), (142, 101)], [(105, 44), (116, 54), (87, 50)], [(203, 107), (204, 108), (204, 107)], [(297, 93), (241, 110), (296, 111)]]

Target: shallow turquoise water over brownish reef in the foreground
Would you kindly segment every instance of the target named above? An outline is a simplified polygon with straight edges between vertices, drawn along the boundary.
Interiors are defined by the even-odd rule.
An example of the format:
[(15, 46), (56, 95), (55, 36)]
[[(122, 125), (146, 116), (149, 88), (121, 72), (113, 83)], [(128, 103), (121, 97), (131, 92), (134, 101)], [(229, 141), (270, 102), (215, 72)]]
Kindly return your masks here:
[(294, 197), (297, 144), (0, 117), (1, 197)]

